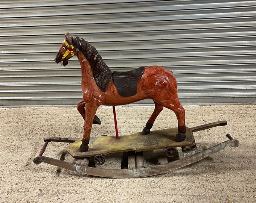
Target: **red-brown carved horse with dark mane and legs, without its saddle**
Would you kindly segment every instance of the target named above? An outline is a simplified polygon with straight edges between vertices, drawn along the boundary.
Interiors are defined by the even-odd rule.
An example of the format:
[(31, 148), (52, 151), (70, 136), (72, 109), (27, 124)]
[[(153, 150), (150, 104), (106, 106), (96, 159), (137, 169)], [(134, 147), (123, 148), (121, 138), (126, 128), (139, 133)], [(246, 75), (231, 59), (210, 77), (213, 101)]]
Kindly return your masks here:
[(84, 39), (67, 33), (66, 40), (56, 55), (55, 62), (63, 61), (62, 65), (66, 66), (68, 59), (75, 55), (78, 57), (82, 72), (83, 100), (78, 103), (78, 111), (85, 120), (84, 135), (79, 151), (88, 150), (91, 127), (100, 105), (126, 105), (146, 98), (154, 101), (155, 109), (143, 129), (142, 135), (150, 133), (156, 117), (163, 107), (166, 107), (174, 111), (177, 116), (178, 133), (175, 141), (186, 139), (185, 110), (178, 100), (177, 82), (171, 71), (160, 66), (146, 67), (137, 82), (136, 94), (126, 97), (121, 96), (117, 91), (113, 73), (96, 49)]

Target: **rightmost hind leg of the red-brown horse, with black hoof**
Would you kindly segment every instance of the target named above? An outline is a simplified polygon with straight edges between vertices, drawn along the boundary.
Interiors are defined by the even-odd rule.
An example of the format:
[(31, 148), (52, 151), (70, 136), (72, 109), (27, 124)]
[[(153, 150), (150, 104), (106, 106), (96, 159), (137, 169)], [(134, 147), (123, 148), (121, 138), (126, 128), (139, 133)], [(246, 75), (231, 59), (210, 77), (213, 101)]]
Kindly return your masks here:
[(185, 109), (181, 105), (178, 98), (174, 99), (174, 100), (166, 100), (165, 102), (161, 102), (161, 105), (174, 111), (174, 113), (177, 117), (178, 133), (176, 134), (174, 141), (181, 142), (181, 141), (185, 140), (186, 139)]

